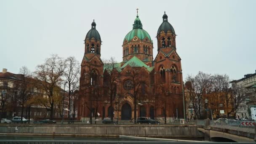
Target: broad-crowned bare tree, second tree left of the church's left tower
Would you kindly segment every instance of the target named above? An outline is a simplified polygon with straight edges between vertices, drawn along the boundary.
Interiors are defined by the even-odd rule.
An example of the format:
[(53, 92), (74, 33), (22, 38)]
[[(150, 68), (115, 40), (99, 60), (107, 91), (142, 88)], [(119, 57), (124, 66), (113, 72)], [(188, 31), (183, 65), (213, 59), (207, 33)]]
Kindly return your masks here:
[(43, 64), (40, 64), (36, 68), (36, 78), (38, 83), (43, 87), (47, 99), (41, 101), (47, 111), (50, 111), (50, 119), (53, 120), (54, 114), (54, 91), (61, 82), (61, 76), (64, 74), (65, 63), (58, 55), (51, 55), (50, 58), (45, 59)]

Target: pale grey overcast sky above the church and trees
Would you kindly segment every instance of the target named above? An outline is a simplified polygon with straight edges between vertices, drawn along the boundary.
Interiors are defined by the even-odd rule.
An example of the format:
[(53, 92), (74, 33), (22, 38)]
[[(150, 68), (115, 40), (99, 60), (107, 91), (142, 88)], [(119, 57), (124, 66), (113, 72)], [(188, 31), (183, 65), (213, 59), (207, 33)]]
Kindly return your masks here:
[(81, 62), (93, 19), (101, 59), (122, 61), (122, 43), (139, 18), (154, 43), (166, 11), (176, 32), (184, 79), (198, 71), (231, 79), (256, 69), (256, 0), (0, 0), (0, 69), (18, 73), (56, 53)]

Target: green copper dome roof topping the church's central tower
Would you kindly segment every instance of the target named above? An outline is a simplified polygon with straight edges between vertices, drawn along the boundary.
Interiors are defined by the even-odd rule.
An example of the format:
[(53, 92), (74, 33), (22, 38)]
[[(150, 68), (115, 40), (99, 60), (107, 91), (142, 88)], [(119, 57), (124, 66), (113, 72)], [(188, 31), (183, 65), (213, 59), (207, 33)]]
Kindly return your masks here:
[(136, 19), (134, 20), (133, 30), (128, 32), (128, 34), (125, 36), (123, 42), (125, 42), (125, 40), (128, 40), (128, 42), (130, 42), (133, 39), (133, 37), (138, 37), (140, 40), (144, 40), (144, 38), (147, 37), (149, 42), (152, 43), (151, 37), (149, 36), (147, 31), (142, 29), (141, 20), (139, 19), (138, 15), (136, 16)]

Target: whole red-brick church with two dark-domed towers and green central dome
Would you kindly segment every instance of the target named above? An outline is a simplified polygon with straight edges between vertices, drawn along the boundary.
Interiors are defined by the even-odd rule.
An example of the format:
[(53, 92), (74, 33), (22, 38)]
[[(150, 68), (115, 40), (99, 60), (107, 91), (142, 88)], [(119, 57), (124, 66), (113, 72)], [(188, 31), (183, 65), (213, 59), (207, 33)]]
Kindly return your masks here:
[[(157, 55), (138, 16), (123, 40), (123, 61), (101, 60), (101, 36), (93, 20), (81, 63), (79, 120), (173, 120), (183, 116), (181, 58), (176, 34), (164, 13), (157, 30)], [(104, 55), (104, 53), (102, 53)], [(163, 122), (163, 121), (162, 121)]]

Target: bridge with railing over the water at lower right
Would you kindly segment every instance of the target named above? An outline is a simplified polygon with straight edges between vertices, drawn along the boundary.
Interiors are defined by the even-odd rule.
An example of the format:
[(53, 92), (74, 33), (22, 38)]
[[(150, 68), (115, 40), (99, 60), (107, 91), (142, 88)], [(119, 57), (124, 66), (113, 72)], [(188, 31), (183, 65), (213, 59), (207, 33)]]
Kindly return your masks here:
[(197, 130), (204, 133), (205, 141), (217, 139), (235, 142), (255, 142), (255, 122), (214, 123), (212, 120), (197, 120)]

